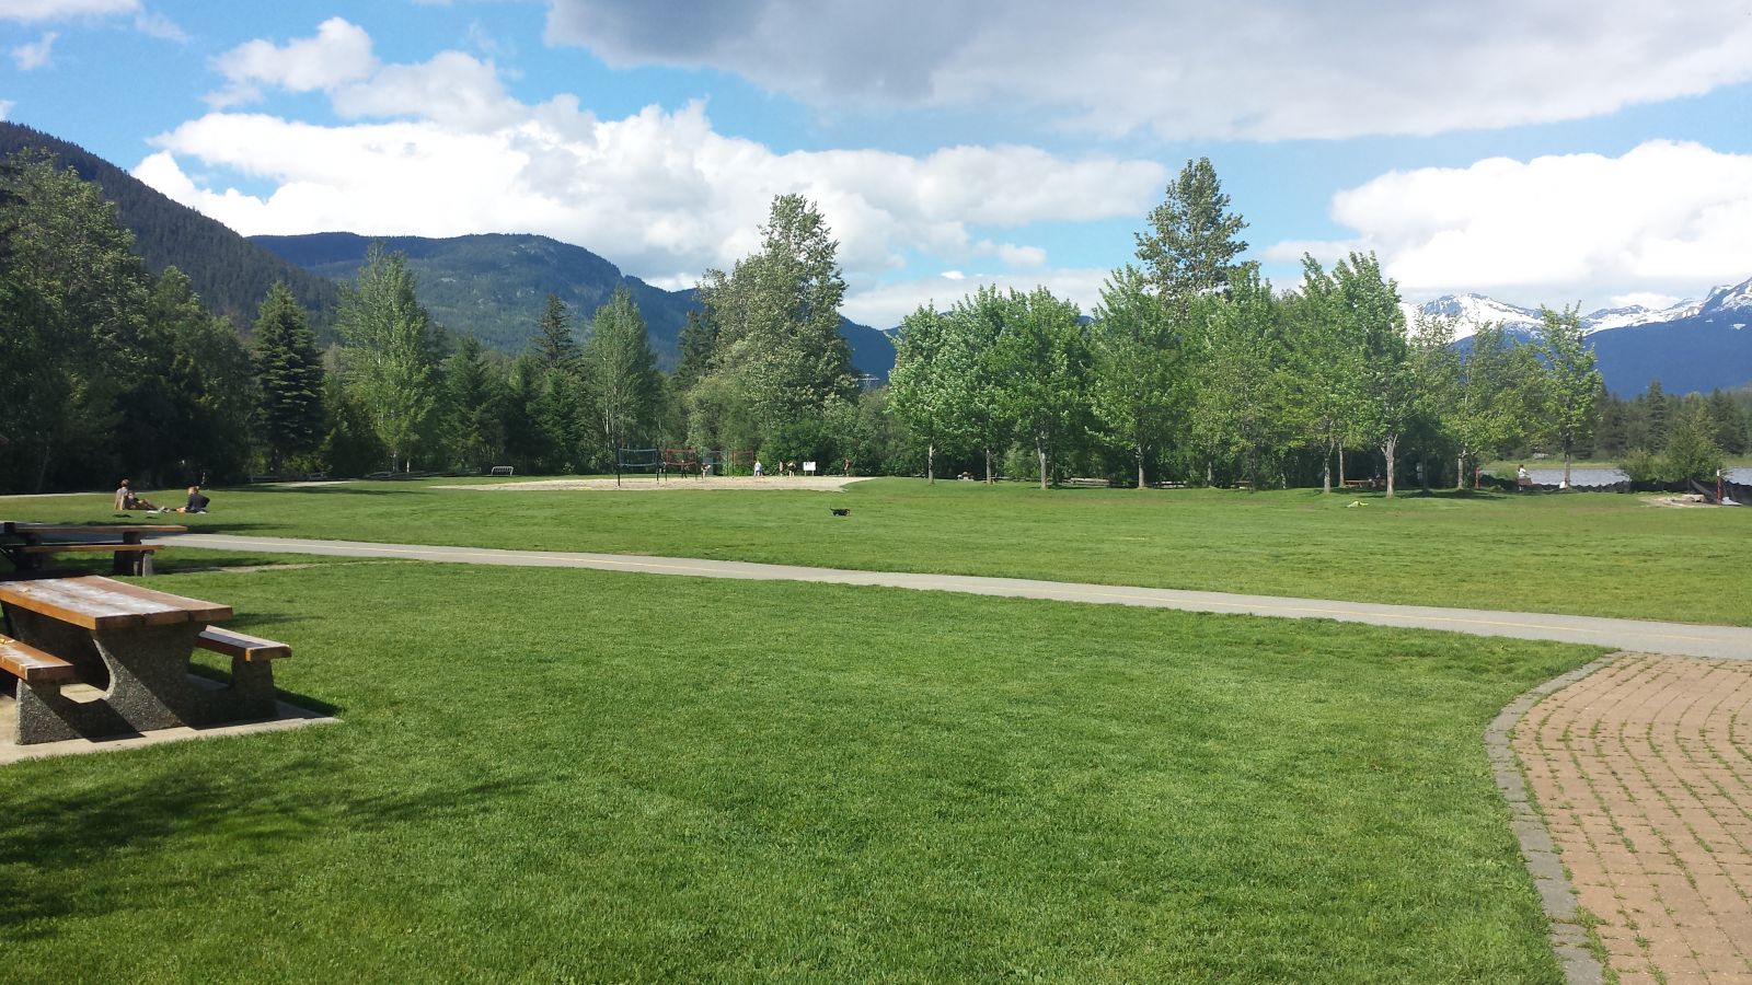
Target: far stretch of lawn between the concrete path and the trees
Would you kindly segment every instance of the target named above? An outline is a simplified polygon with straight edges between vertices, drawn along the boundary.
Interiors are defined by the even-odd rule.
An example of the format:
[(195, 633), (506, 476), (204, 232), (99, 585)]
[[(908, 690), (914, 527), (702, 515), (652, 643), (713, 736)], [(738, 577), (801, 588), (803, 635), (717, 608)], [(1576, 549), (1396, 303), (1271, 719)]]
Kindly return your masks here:
[[(1752, 510), (1657, 508), (1629, 494), (1042, 492), (915, 478), (841, 492), (513, 492), (447, 482), (457, 480), (226, 489), (189, 524), (1752, 626), (1752, 592), (1736, 589)], [(91, 496), (0, 510), (112, 515)], [(163, 559), (173, 564), (175, 552)]]

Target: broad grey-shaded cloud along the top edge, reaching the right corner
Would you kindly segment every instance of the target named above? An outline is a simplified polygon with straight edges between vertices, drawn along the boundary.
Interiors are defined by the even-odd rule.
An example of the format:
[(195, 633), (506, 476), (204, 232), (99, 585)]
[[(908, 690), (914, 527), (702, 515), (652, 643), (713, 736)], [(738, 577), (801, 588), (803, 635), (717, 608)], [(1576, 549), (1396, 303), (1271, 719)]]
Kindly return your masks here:
[[(1743, 0), (548, 0), (610, 65), (710, 67), (836, 110), (944, 105), (1104, 133), (1298, 138), (1580, 119), (1752, 79)], [(687, 7), (687, 30), (675, 18)]]

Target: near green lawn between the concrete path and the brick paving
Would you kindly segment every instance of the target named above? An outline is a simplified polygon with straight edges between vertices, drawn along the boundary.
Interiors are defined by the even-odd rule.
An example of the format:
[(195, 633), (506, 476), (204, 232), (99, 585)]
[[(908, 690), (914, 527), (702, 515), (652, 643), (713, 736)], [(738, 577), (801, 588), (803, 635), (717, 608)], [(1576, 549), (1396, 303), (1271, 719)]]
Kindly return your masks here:
[[(878, 485), (832, 533), (820, 496), (706, 508), (850, 547), (958, 494)], [(350, 526), (328, 533), (412, 540), (487, 510), (217, 500), (228, 526), (315, 533), (273, 503), (319, 503)], [(650, 536), (661, 500), (487, 515), (519, 517), (508, 542), (538, 510)], [(1559, 980), (1482, 731), (1587, 648), (413, 563), (152, 585), (293, 643), (280, 685), (343, 724), (0, 769), (4, 980)]]

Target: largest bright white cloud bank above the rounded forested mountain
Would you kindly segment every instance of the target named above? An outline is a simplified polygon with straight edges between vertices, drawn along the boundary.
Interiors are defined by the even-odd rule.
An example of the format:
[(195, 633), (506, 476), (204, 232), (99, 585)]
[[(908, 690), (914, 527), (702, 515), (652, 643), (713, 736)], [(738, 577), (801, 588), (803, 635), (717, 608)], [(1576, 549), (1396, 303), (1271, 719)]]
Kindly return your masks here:
[[(135, 175), (245, 235), (533, 231), (666, 286), (752, 252), (773, 196), (788, 191), (820, 203), (855, 296), (915, 251), (1051, 282), (1060, 273), (1046, 268), (1046, 251), (992, 231), (1142, 216), (1167, 181), (1155, 161), (1020, 145), (776, 152), (718, 133), (701, 103), (624, 119), (599, 119), (571, 95), (527, 105), (506, 95), (491, 61), (447, 51), (384, 65), (371, 39), (338, 18), (310, 39), (238, 46), (215, 68), (230, 86), (221, 103), (322, 91), (349, 121), (208, 112), (156, 138), (159, 152)], [(212, 168), (272, 191), (223, 188), (203, 177)], [(858, 310), (888, 321), (880, 307)]]

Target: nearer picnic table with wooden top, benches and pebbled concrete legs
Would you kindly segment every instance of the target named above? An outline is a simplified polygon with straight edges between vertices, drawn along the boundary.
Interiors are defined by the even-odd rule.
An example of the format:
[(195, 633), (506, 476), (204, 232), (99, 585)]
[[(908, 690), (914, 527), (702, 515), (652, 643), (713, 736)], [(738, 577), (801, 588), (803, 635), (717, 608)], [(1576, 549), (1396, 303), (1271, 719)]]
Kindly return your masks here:
[[(0, 582), (0, 671), (18, 678), (18, 745), (272, 719), (272, 661), (291, 655), (284, 643), (214, 626), (231, 617), (228, 605), (100, 575)], [(231, 657), (230, 687), (189, 675), (194, 648)]]

